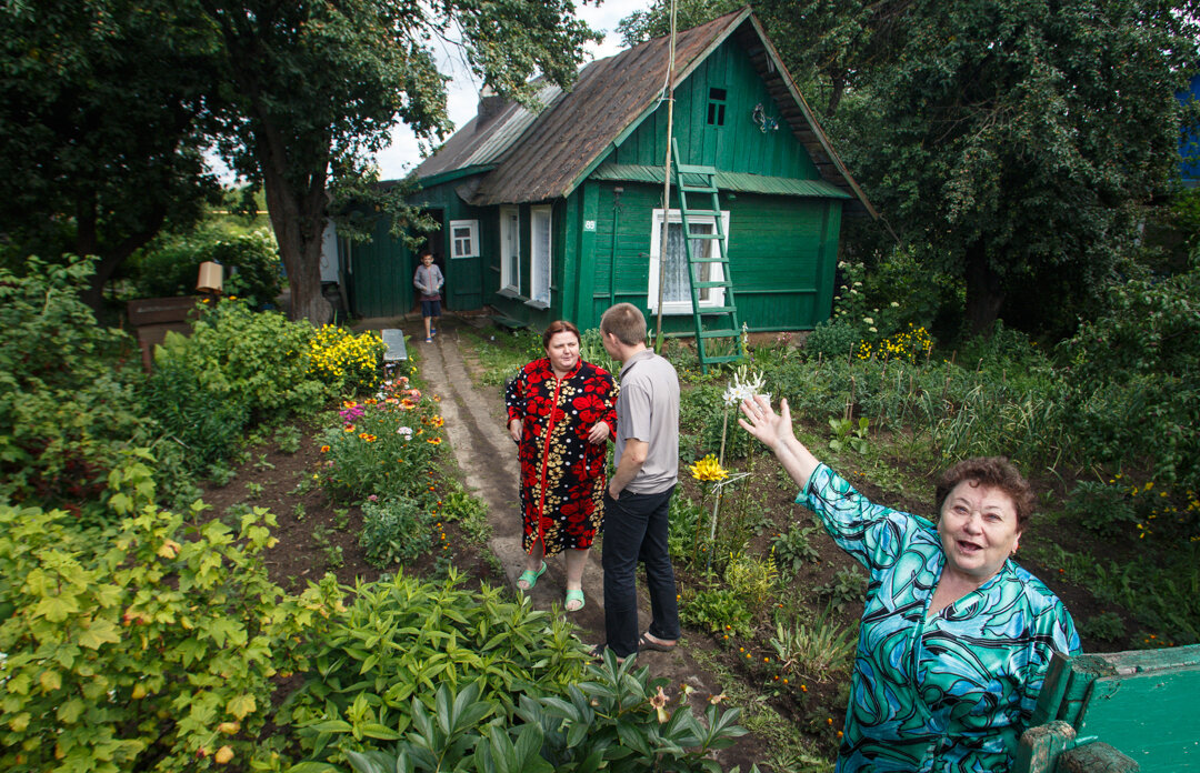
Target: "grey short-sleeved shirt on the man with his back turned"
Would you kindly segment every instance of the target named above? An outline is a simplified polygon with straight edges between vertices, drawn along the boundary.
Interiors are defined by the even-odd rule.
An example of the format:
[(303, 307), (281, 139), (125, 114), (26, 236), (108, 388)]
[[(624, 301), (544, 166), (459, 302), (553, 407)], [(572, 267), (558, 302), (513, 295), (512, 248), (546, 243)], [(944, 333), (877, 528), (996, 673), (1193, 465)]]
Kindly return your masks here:
[(638, 352), (620, 368), (617, 397), (617, 451), (620, 465), (625, 441), (647, 443), (646, 463), (625, 491), (659, 493), (679, 479), (679, 377), (652, 349)]

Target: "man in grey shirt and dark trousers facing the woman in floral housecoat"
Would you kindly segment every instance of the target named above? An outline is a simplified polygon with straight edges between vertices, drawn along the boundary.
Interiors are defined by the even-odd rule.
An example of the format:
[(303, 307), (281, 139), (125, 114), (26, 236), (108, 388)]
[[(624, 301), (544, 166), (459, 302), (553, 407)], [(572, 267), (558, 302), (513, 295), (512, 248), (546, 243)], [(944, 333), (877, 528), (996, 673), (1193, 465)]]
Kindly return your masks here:
[[(600, 319), (608, 355), (622, 362), (617, 397), (617, 472), (608, 480), (604, 521), (604, 606), (607, 646), (618, 658), (667, 652), (679, 640), (679, 606), (667, 550), (667, 510), (679, 472), (679, 379), (646, 348), (646, 317), (617, 304)], [(637, 562), (646, 564), (653, 619), (638, 636)]]

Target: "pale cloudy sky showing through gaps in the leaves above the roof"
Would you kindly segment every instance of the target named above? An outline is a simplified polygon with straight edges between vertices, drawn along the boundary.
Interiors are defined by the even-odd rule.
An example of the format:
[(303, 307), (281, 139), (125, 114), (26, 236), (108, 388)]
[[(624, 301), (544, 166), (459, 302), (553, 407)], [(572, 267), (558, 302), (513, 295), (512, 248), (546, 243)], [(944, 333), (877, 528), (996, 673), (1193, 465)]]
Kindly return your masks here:
[[(599, 46), (589, 47), (592, 59), (611, 56), (622, 49), (620, 38), (617, 35), (617, 23), (647, 6), (644, 0), (605, 0), (604, 5), (596, 7), (594, 4), (581, 5), (576, 1), (578, 16), (593, 29), (605, 34), (605, 40)], [(443, 50), (444, 72), (450, 72), (454, 80), (450, 83), (450, 120), (455, 126), (462, 126), (475, 115), (479, 104), (479, 86), (474, 77), (458, 61), (457, 54), (446, 47)], [(380, 178), (394, 180), (402, 178), (421, 162), (420, 150), (416, 139), (407, 127), (401, 126), (392, 132), (391, 145), (376, 158), (379, 164)]]

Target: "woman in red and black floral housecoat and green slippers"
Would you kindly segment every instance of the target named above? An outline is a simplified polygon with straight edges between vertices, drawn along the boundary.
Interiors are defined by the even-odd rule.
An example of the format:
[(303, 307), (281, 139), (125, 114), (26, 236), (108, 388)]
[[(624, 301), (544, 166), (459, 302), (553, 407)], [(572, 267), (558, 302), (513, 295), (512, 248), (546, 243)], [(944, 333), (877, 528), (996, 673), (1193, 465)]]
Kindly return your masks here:
[(580, 359), (580, 330), (551, 323), (546, 356), (529, 362), (508, 386), (509, 433), (521, 461), (522, 546), (528, 591), (546, 571), (545, 556), (566, 555), (566, 611), (583, 609), (583, 567), (604, 515), (606, 441), (617, 432), (617, 384)]

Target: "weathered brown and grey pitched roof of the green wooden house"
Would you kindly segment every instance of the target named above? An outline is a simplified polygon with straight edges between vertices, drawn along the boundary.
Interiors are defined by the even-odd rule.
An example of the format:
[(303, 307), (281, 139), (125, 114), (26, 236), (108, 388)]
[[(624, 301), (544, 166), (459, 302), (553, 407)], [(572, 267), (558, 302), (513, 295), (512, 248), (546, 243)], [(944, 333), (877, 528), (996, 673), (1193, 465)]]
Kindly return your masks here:
[[(682, 84), (709, 53), (733, 35), (746, 48), (760, 77), (779, 103), (780, 115), (808, 150), (822, 180), (842, 191), (845, 198), (857, 199), (876, 216), (858, 184), (834, 154), (824, 131), (749, 7), (676, 36), (676, 85)], [(515, 103), (506, 103), (491, 120), (480, 122), (476, 116), (421, 163), (416, 176), (422, 184), (432, 185), (442, 181), (433, 178), (467, 166), (486, 168), (494, 164), (470, 192), (469, 203), (512, 204), (565, 197), (595, 172), (608, 150), (658, 107), (666, 82), (668, 55), (670, 40), (654, 38), (589, 64), (580, 72), (570, 91), (541, 98), (546, 108), (536, 115)], [(548, 90), (546, 95), (551, 96)], [(778, 181), (785, 178), (763, 179)], [(827, 186), (812, 180), (791, 180), (788, 185), (739, 180), (740, 185), (756, 182), (787, 188), (762, 192), (829, 196)], [(799, 193), (791, 185), (794, 182), (814, 184), (814, 192)]]

